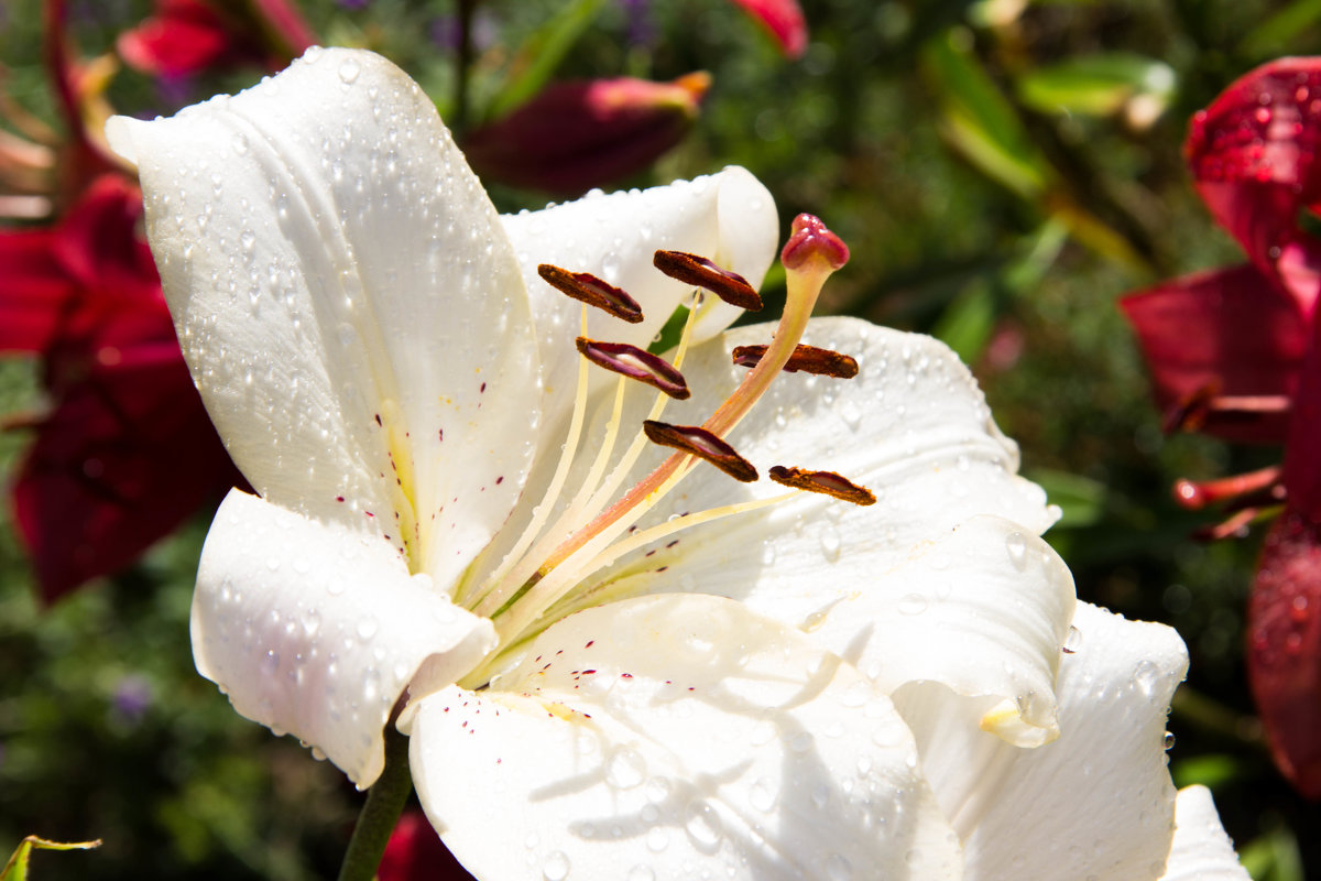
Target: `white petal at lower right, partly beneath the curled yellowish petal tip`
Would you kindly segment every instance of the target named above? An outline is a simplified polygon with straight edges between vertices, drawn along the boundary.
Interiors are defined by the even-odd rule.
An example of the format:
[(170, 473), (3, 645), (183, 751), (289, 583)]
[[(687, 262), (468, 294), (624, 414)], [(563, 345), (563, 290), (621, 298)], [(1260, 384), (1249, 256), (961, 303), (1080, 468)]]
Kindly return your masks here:
[(968, 878), (1157, 878), (1174, 822), (1165, 720), (1188, 670), (1170, 627), (1125, 621), (1087, 604), (1074, 618), (1075, 654), (1055, 693), (1059, 738), (1017, 749), (976, 732), (908, 686), (896, 705), (922, 750), (922, 769), (966, 836)]

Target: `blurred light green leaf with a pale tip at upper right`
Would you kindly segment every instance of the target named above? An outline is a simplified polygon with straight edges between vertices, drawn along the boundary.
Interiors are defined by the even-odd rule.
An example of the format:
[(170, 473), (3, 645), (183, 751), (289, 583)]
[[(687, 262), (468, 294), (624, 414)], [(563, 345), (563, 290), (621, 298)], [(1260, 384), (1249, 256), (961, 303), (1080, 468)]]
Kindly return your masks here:
[(1116, 52), (1037, 67), (1018, 78), (1017, 91), (1024, 104), (1042, 112), (1110, 116), (1137, 95), (1164, 108), (1174, 86), (1174, 70), (1165, 62)]

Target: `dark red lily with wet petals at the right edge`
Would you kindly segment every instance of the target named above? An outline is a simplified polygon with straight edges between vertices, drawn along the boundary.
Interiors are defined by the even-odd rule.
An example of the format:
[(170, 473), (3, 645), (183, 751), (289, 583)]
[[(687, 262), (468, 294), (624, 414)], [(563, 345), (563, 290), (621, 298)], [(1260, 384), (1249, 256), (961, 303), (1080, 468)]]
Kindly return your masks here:
[[(1284, 502), (1248, 602), (1248, 682), (1276, 765), (1321, 798), (1321, 59), (1284, 58), (1234, 82), (1193, 118), (1185, 153), (1198, 193), (1248, 263), (1174, 279), (1122, 301), (1170, 427), (1284, 444), (1281, 469), (1181, 482), (1236, 518)], [(1214, 534), (1229, 534), (1222, 528)]]

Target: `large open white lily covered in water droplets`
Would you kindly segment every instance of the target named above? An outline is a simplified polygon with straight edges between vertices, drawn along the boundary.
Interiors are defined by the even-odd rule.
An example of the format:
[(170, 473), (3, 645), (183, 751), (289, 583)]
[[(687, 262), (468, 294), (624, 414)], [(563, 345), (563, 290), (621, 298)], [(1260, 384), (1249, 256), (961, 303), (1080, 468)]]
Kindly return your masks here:
[[(1165, 870), (1182, 645), (1077, 606), (1038, 538), (1054, 512), (956, 358), (808, 324), (815, 227), (752, 374), (731, 349), (773, 329), (721, 334), (738, 309), (653, 268), (662, 248), (761, 279), (775, 213), (748, 172), (502, 218), (427, 96), (347, 50), (107, 133), (256, 490), (222, 505), (193, 606), (198, 670), (239, 712), (369, 786), (402, 709), (423, 806), (482, 878)], [(587, 314), (538, 264), (645, 320)], [(646, 346), (684, 304), (692, 396), (667, 420), (875, 505), (647, 445), (664, 398), (573, 338)], [(777, 375), (799, 337), (857, 376)]]

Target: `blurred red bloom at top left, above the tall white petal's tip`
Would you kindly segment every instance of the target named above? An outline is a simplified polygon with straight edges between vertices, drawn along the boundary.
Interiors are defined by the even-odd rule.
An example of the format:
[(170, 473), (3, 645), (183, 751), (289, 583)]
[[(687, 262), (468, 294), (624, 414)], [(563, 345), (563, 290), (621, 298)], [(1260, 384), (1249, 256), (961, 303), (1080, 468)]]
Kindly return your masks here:
[(316, 42), (288, 0), (156, 0), (155, 13), (119, 36), (119, 55), (143, 73), (186, 77), (238, 65), (283, 67)]

